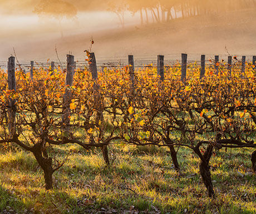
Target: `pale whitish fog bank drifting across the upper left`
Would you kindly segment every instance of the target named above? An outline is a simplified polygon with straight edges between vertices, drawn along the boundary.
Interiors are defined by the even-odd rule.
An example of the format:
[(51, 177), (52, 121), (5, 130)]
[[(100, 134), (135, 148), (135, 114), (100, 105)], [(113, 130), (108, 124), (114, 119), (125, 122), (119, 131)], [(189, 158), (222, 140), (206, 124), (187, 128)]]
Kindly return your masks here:
[[(126, 28), (136, 25), (137, 16), (126, 12)], [(31, 58), (45, 60), (56, 57), (55, 45), (73, 41), (81, 36), (83, 50), (87, 49), (91, 38), (95, 35), (123, 30), (114, 13), (108, 11), (78, 12), (75, 18), (63, 18), (61, 23), (54, 18), (38, 17), (37, 14), (0, 14), (0, 60), (4, 61), (13, 54), (13, 47), (17, 57), (22, 60)], [(61, 33), (62, 32), (62, 33)], [(61, 35), (63, 34), (63, 35)], [(76, 39), (75, 39), (76, 40)], [(77, 42), (77, 41), (76, 41)], [(85, 43), (83, 43), (85, 42)], [(47, 47), (49, 49), (45, 49)], [(62, 51), (63, 47), (58, 47)], [(76, 48), (68, 46), (67, 51), (76, 51)], [(64, 51), (65, 52), (65, 51)], [(49, 54), (49, 55), (48, 55)]]

